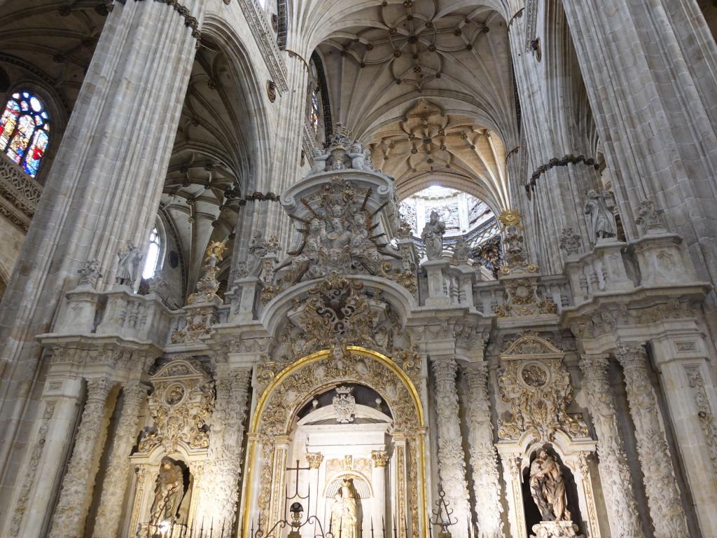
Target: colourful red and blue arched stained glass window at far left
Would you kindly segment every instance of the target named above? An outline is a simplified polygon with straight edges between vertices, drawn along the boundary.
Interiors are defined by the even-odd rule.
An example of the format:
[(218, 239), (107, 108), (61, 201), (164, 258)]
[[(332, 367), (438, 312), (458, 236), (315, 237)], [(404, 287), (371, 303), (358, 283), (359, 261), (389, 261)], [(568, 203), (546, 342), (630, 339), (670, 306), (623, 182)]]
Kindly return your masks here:
[(42, 101), (30, 92), (7, 100), (0, 116), (0, 151), (34, 177), (49, 143), (49, 116)]

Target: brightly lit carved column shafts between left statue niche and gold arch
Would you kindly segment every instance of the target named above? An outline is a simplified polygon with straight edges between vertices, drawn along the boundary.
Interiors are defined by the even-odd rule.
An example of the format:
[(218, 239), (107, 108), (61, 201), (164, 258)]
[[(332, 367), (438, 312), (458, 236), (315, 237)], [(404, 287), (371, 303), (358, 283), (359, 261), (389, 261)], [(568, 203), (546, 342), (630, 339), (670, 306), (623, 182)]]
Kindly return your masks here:
[(197, 519), (213, 522), (215, 528), (232, 527), (237, 512), (250, 375), (250, 368), (217, 372), (212, 433), (197, 509)]

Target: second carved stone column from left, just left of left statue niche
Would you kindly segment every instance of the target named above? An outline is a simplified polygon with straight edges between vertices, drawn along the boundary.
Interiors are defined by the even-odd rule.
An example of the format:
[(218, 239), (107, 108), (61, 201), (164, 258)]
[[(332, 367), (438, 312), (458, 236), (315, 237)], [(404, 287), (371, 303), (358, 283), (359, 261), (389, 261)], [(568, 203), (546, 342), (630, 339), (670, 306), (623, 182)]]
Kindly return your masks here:
[(122, 504), (130, 479), (130, 453), (137, 438), (137, 425), (147, 386), (139, 380), (127, 382), (123, 389), (120, 420), (112, 443), (112, 453), (103, 483), (100, 507), (92, 538), (115, 538), (120, 527)]

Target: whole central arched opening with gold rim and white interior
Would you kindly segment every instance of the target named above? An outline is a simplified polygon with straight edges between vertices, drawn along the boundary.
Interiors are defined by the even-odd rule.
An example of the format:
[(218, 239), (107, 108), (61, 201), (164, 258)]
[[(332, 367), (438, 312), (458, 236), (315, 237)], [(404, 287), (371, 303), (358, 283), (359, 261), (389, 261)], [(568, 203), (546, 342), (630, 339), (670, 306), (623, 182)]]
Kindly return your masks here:
[[(385, 491), (391, 499), (390, 506), (386, 503), (384, 517), (396, 519), (399, 537), (427, 536), (425, 427), (423, 407), (416, 387), (404, 369), (389, 357), (360, 346), (348, 346), (347, 351), (348, 355), (335, 357), (333, 351), (325, 349), (298, 359), (276, 374), (260, 395), (248, 436), (247, 476), (242, 495), (242, 536), (249, 537), (251, 529), (257, 527), (269, 532), (277, 522), (285, 519), (286, 505), (288, 502), (291, 504), (295, 491), (304, 487), (301, 496), (309, 490), (312, 475), (308, 471), (312, 466), (315, 466), (313, 480), (317, 484), (314, 498), (322, 495), (324, 501), (320, 507), (314, 501), (307, 504), (305, 509), (316, 511), (308, 515), (323, 517), (324, 521), (331, 524), (327, 509), (330, 511), (335, 501), (328, 501), (326, 495), (333, 491), (337, 481), (343, 483), (346, 479), (351, 482), (347, 487), (353, 489), (354, 495), (358, 497), (357, 511), (359, 507), (368, 507), (371, 510), (369, 522), (371, 517), (379, 517), (380, 509), (376, 504), (360, 505), (363, 501), (361, 489), (369, 492), (374, 499), (378, 498), (376, 490), (381, 487), (380, 471), (376, 471), (375, 476), (374, 471), (371, 471), (369, 483), (369, 473), (364, 467), (369, 463), (369, 454), (373, 465), (373, 453), (376, 453), (376, 459), (380, 459), (384, 457), (381, 452), (386, 453), (388, 469), (383, 476), (387, 481)], [(348, 427), (342, 427), (346, 430), (343, 435), (351, 437), (361, 435), (361, 428), (357, 428), (361, 423), (371, 424), (366, 426), (366, 429), (371, 430), (371, 443), (360, 448), (354, 447), (346, 453), (347, 449), (340, 447), (348, 445), (338, 443), (336, 438), (332, 440), (332, 435), (309, 436), (308, 443), (306, 438), (298, 438), (298, 435), (311, 429), (308, 426), (320, 425), (329, 417), (336, 420), (341, 412), (333, 408), (333, 398), (341, 400), (343, 395), (347, 397), (344, 401), (350, 400), (356, 387), (360, 387), (356, 392), (360, 396), (359, 404), (356, 404), (354, 396), (353, 412), (346, 415), (346, 409), (341, 411), (347, 422), (338, 424), (348, 424)], [(322, 411), (323, 407), (328, 406), (321, 406), (321, 399), (326, 401), (329, 397), (332, 409)], [(364, 405), (365, 402), (361, 403), (368, 397), (374, 398), (374, 404), (380, 398), (383, 410), (371, 409), (369, 405)], [(313, 409), (313, 400), (318, 401), (316, 409)], [(362, 420), (351, 427), (351, 417), (353, 422), (356, 422), (356, 417)], [(312, 463), (312, 459), (319, 459), (319, 456), (313, 456), (320, 453), (314, 450), (319, 440), (327, 454), (321, 453), (323, 458), (320, 458), (320, 463)], [(343, 463), (339, 456), (343, 457)], [(328, 468), (331, 459), (336, 462), (332, 463), (332, 468)], [(304, 479), (297, 469), (306, 467), (309, 468), (305, 469), (308, 478)], [(293, 478), (288, 479), (290, 473), (294, 473)], [(319, 488), (321, 476), (324, 483)], [(365, 515), (361, 514), (362, 517)], [(328, 529), (324, 529), (324, 532), (328, 532)]]

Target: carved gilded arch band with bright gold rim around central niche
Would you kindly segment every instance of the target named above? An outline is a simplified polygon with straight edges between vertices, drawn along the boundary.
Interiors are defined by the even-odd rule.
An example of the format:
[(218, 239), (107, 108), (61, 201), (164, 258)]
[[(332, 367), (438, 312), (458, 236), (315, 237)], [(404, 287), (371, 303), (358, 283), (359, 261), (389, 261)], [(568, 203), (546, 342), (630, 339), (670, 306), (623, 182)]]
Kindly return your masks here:
[[(423, 405), (409, 372), (397, 362), (377, 351), (361, 346), (348, 346), (348, 357), (336, 359), (324, 349), (307, 355), (277, 373), (261, 393), (248, 434), (247, 476), (244, 480), (242, 535), (249, 536), (252, 506), (256, 499), (262, 528), (267, 529), (279, 519), (280, 503), (272, 502), (277, 487), (276, 469), (280, 468), (280, 447), (287, 443), (293, 418), (301, 406), (318, 392), (338, 383), (355, 382), (376, 390), (384, 398), (394, 416), (394, 438), (406, 439), (409, 499), (405, 514), (413, 522), (412, 535), (427, 537), (427, 491), (424, 435), (426, 432)], [(255, 476), (255, 473), (258, 473)], [(258, 491), (252, 494), (252, 484)], [(420, 534), (419, 534), (420, 533)]]

